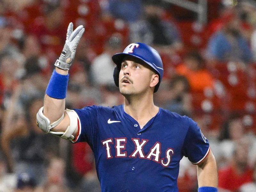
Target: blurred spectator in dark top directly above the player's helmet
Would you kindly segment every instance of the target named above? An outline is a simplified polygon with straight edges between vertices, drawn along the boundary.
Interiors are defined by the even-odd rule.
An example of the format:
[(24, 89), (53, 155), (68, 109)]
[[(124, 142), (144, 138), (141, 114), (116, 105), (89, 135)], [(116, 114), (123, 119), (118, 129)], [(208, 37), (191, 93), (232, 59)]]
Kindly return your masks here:
[(173, 22), (163, 19), (161, 2), (145, 1), (143, 10), (142, 19), (130, 26), (130, 41), (149, 44), (160, 54), (180, 50), (183, 46), (180, 33)]

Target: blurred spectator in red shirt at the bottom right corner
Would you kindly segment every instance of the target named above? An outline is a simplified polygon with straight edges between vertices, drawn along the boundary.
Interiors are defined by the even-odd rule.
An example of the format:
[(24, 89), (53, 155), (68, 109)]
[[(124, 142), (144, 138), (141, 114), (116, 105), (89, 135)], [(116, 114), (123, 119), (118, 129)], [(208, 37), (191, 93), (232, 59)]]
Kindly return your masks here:
[(219, 191), (238, 191), (244, 183), (252, 181), (252, 172), (248, 166), (248, 148), (238, 143), (231, 163), (219, 170)]

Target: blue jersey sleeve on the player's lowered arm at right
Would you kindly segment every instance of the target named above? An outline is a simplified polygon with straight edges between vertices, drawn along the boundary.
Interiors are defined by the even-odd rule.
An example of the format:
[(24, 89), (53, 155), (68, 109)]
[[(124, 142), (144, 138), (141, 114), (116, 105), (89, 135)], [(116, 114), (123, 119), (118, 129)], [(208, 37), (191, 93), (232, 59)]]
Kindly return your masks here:
[(198, 164), (204, 160), (210, 151), (208, 140), (204, 137), (196, 122), (188, 118), (189, 127), (183, 143), (183, 155), (188, 157), (192, 164)]

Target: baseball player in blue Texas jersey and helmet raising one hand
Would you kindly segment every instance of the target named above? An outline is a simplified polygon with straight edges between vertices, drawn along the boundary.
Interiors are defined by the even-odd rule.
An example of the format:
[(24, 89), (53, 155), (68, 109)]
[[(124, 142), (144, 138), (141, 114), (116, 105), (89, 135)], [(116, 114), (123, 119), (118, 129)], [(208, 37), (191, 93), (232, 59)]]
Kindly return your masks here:
[(69, 24), (44, 107), (37, 113), (39, 128), (73, 143), (88, 142), (104, 192), (178, 191), (183, 156), (197, 164), (198, 191), (216, 192), (215, 158), (197, 124), (154, 105), (153, 94), (164, 71), (152, 47), (132, 43), (113, 55), (114, 81), (124, 96), (123, 105), (65, 110), (68, 69), (83, 33), (83, 26), (73, 31)]

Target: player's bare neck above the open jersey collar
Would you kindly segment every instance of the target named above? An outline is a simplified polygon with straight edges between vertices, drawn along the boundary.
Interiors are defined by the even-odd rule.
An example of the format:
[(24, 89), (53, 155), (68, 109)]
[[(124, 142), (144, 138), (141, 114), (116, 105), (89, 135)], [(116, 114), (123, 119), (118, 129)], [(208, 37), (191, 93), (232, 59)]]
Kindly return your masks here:
[[(152, 96), (133, 96), (124, 98), (124, 111), (132, 116), (140, 127), (143, 127), (153, 116), (157, 114), (159, 108), (155, 106)], [(141, 126), (142, 125), (142, 126)]]

